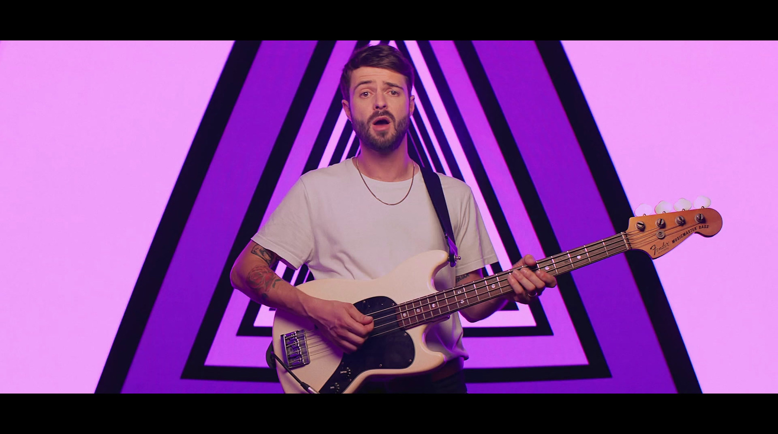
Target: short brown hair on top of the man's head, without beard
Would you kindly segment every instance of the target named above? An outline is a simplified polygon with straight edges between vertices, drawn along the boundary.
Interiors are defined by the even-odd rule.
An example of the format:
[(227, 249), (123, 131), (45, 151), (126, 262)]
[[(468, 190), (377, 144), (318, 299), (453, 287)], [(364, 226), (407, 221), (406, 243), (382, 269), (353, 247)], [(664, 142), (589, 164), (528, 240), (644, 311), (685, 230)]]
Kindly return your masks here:
[(349, 95), (351, 90), (349, 89), (351, 87), (351, 72), (363, 66), (390, 69), (405, 75), (408, 94), (411, 93), (411, 89), (413, 89), (413, 66), (411, 62), (397, 48), (391, 45), (369, 45), (354, 51), (349, 61), (343, 66), (340, 88), (344, 100), (351, 101)]

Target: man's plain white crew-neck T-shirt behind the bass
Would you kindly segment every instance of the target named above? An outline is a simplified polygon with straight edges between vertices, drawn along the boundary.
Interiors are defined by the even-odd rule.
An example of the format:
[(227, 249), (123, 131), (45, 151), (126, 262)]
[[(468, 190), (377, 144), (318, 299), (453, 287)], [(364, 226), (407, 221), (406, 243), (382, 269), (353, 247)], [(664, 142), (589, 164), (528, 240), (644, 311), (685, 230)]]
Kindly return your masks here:
[[(435, 276), (436, 289), (443, 291), (454, 286), (457, 275), (493, 264), (497, 256), (468, 184), (438, 176), (461, 257), (456, 267), (443, 267)], [(400, 201), (411, 187), (411, 180), (384, 182), (365, 177), (365, 181), (373, 194), (390, 204)], [(448, 251), (418, 169), (408, 197), (400, 204), (384, 205), (373, 194), (351, 159), (311, 170), (297, 180), (251, 240), (278, 254), (292, 268), (307, 264), (316, 279), (379, 278), (416, 254)], [(426, 344), (447, 360), (468, 358), (458, 315), (433, 324)]]

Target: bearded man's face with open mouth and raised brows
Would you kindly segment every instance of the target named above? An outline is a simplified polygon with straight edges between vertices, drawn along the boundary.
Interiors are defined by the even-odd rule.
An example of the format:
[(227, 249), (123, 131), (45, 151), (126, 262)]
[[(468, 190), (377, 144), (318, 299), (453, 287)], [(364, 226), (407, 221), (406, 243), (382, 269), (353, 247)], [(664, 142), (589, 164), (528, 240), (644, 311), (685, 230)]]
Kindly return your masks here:
[(381, 153), (398, 149), (415, 107), (405, 75), (384, 68), (357, 68), (351, 74), (350, 90), (351, 102), (343, 100), (343, 108), (359, 142)]

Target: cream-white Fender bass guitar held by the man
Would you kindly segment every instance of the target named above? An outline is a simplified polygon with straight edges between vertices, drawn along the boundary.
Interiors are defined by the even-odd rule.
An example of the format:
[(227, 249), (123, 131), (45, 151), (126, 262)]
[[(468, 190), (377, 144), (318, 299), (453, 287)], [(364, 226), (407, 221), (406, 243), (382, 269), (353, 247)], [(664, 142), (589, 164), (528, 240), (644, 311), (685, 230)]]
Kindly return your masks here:
[[(626, 250), (643, 250), (656, 259), (695, 233), (716, 235), (721, 223), (713, 208), (633, 217), (625, 232), (545, 257), (537, 268), (561, 275)], [(272, 350), (284, 392), (352, 393), (372, 377), (412, 376), (443, 366), (443, 355), (425, 345), (429, 324), (512, 292), (507, 276), (517, 269), (436, 291), (433, 276), (447, 264), (447, 252), (431, 250), (374, 280), (321, 279), (299, 285), (310, 296), (353, 303), (373, 317), (374, 328), (363, 346), (349, 354), (324, 338), (312, 321), (277, 310)]]

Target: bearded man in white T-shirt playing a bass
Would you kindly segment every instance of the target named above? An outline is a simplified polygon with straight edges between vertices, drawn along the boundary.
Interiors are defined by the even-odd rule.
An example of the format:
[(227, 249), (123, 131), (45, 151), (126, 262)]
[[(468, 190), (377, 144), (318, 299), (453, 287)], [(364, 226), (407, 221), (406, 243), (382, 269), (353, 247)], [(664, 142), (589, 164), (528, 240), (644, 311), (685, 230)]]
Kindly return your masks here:
[[(352, 54), (343, 68), (341, 92), (343, 110), (359, 138), (359, 155), (300, 177), (230, 274), (236, 289), (257, 303), (310, 318), (344, 352), (363, 345), (373, 331), (373, 318), (350, 303), (308, 296), (273, 269), (280, 260), (292, 268), (307, 264), (316, 279), (374, 279), (415, 254), (448, 250), (419, 167), (408, 156), (412, 86), (412, 66), (394, 47), (365, 47)], [(481, 268), (497, 257), (470, 187), (439, 176), (461, 257), (455, 269), (444, 267), (434, 278), (436, 289), (445, 290), (482, 278)], [(527, 255), (519, 264), (534, 266), (535, 261)], [(471, 322), (482, 320), (508, 299), (531, 303), (545, 287), (556, 285), (545, 271), (526, 268), (514, 271), (508, 281), (510, 296), (470, 306), (461, 314)], [(459, 317), (430, 326), (426, 338), (430, 349), (443, 353), (446, 365), (411, 380), (392, 380), (386, 389), (466, 392), (462, 367), (468, 352)]]

